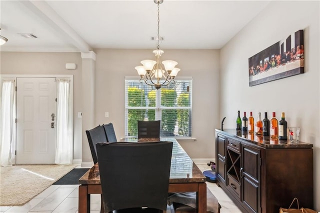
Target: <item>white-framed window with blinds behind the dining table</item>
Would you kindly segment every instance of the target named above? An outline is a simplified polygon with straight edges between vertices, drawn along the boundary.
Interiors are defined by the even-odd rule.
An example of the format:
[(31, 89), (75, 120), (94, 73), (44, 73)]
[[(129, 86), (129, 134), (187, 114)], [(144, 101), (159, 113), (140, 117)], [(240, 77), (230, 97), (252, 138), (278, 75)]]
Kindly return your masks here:
[(191, 77), (158, 90), (137, 78), (125, 78), (125, 136), (137, 135), (137, 120), (161, 120), (161, 137), (191, 137), (191, 115)]

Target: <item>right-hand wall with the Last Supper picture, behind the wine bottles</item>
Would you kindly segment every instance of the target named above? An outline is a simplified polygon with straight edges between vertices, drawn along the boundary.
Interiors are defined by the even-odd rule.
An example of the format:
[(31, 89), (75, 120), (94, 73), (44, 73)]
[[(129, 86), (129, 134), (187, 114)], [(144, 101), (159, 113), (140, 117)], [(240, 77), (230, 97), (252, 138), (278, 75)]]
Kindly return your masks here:
[[(320, 75), (319, 1), (271, 1), (220, 51), (220, 115), (225, 128), (234, 128), (237, 110), (285, 112), (288, 126), (301, 127), (300, 140), (313, 144), (314, 207), (320, 210)], [(263, 84), (248, 86), (248, 58), (304, 30), (304, 72)], [(263, 118), (264, 115), (262, 115)], [(296, 171), (299, 172), (299, 171)], [(292, 175), (294, 178), (294, 175)], [(289, 181), (289, 180), (288, 180)]]

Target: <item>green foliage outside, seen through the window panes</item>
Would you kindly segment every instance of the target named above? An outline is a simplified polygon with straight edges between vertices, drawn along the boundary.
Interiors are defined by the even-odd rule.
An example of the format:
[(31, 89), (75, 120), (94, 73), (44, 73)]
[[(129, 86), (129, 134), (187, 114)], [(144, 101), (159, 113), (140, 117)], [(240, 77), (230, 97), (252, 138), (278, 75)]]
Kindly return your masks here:
[[(147, 94), (144, 89), (128, 87), (128, 106), (155, 107), (157, 90), (150, 90)], [(182, 92), (177, 96), (175, 89), (161, 88), (161, 107), (189, 106), (189, 92)], [(128, 135), (137, 135), (137, 120), (155, 120), (155, 109), (128, 109)], [(189, 109), (166, 108), (161, 109), (161, 131), (169, 136), (174, 135), (175, 125), (178, 135), (188, 136)], [(177, 132), (175, 132), (177, 133)]]

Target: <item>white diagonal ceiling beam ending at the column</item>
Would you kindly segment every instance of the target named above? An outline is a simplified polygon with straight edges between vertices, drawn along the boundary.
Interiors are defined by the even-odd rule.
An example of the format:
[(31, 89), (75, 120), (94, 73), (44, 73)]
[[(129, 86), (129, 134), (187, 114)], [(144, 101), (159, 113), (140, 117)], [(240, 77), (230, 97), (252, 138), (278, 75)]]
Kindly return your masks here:
[(22, 0), (27, 8), (33, 11), (36, 15), (46, 21), (54, 28), (61, 31), (78, 50), (79, 52), (89, 52), (92, 48), (86, 41), (79, 36), (69, 24), (61, 18), (44, 0)]

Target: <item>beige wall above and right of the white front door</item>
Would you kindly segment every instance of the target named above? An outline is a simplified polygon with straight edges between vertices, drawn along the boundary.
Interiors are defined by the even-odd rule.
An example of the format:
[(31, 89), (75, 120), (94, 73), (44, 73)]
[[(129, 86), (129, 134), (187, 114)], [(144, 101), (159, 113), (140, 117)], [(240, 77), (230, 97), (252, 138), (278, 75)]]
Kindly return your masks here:
[[(73, 159), (81, 159), (81, 55), (57, 52), (1, 52), (0, 74), (72, 74), (73, 75)], [(75, 63), (76, 69), (65, 69), (65, 63)]]

